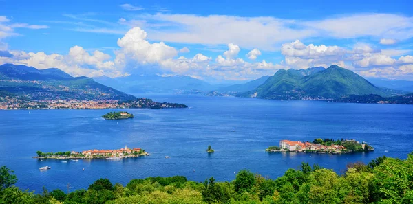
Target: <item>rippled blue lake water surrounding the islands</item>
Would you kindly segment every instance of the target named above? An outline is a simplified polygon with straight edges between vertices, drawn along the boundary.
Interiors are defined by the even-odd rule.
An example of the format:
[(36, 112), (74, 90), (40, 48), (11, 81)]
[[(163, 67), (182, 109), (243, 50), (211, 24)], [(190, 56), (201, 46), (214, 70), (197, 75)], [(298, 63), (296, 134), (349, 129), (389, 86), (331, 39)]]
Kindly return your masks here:
[[(0, 111), (0, 166), (14, 170), (17, 186), (40, 192), (45, 186), (67, 190), (87, 186), (101, 177), (125, 185), (131, 179), (183, 175), (193, 181), (215, 177), (230, 181), (249, 169), (275, 179), (288, 169), (310, 164), (343, 172), (348, 162), (383, 155), (405, 159), (413, 151), (413, 106), (341, 104), (209, 98), (191, 95), (138, 95), (180, 102), (189, 109), (128, 109), (130, 120), (103, 120), (113, 110)], [(374, 152), (343, 155), (266, 153), (279, 140), (313, 141), (354, 138), (370, 143)], [(43, 152), (143, 148), (149, 157), (121, 161), (78, 162), (32, 159)], [(205, 150), (211, 145), (215, 153)], [(171, 158), (165, 159), (165, 156)], [(52, 169), (40, 172), (41, 166)], [(85, 171), (82, 171), (85, 168)], [(195, 170), (195, 172), (193, 171)]]

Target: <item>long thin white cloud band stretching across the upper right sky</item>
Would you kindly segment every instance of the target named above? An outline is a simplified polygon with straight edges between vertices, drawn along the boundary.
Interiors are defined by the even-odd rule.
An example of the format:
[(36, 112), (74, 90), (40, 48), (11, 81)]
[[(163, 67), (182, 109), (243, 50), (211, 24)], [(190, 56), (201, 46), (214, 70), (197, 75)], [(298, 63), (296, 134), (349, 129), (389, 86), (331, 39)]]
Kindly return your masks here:
[[(398, 14), (351, 14), (317, 21), (277, 19), (271, 16), (242, 17), (193, 14), (140, 14), (153, 41), (224, 45), (247, 49), (279, 49), (279, 44), (313, 37), (371, 37), (403, 41), (413, 37), (413, 18)], [(153, 29), (156, 27), (156, 29)], [(163, 29), (165, 28), (165, 29)], [(246, 29), (248, 28), (248, 29)]]

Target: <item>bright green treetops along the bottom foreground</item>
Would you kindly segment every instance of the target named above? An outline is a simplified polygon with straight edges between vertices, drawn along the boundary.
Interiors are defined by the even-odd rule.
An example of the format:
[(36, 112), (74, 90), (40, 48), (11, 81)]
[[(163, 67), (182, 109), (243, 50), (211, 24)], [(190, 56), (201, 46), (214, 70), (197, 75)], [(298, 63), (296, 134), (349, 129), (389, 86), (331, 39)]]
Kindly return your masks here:
[[(11, 174), (7, 168), (3, 169), (5, 174)], [(213, 177), (197, 183), (177, 176), (134, 179), (126, 188), (118, 183), (113, 186), (108, 179), (98, 179), (88, 190), (76, 190), (67, 195), (61, 190), (49, 193), (45, 188), (41, 194), (33, 194), (12, 184), (3, 185), (0, 190), (0, 204), (59, 202), (407, 204), (413, 202), (413, 155), (405, 160), (379, 157), (368, 165), (349, 163), (342, 175), (301, 163), (299, 170), (288, 169), (275, 180), (242, 170), (231, 183), (216, 182)]]

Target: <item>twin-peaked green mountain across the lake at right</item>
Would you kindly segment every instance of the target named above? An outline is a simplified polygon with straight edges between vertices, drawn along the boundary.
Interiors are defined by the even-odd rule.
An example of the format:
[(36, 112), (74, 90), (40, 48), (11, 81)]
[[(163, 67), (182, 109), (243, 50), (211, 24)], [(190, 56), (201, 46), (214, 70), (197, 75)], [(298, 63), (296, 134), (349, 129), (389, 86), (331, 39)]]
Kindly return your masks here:
[(283, 100), (326, 99), (366, 94), (388, 96), (388, 93), (348, 69), (337, 65), (327, 69), (321, 68), (309, 71), (279, 70), (260, 87), (241, 96)]

